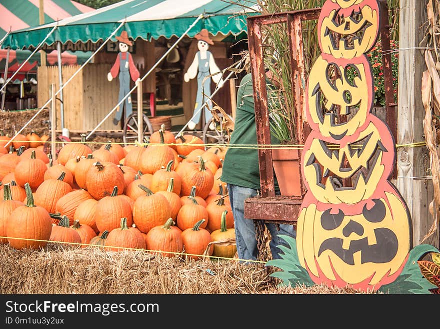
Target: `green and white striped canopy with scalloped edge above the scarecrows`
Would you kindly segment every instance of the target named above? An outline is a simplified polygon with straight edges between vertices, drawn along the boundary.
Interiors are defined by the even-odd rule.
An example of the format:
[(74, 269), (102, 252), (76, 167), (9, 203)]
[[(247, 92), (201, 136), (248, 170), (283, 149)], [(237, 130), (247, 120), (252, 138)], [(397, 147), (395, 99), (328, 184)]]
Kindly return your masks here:
[(246, 32), (246, 17), (259, 11), (254, 0), (126, 0), (57, 22), (14, 31), (2, 47), (35, 48), (55, 25), (55, 32), (47, 38), (43, 48), (60, 41), (63, 45), (81, 45), (68, 50), (90, 51), (93, 49), (84, 45), (102, 42), (122, 22), (125, 23), (117, 35), (125, 30), (133, 40), (169, 39), (180, 37), (200, 14), (203, 18), (188, 32), (188, 37), (201, 29), (207, 29), (212, 36), (240, 35)]

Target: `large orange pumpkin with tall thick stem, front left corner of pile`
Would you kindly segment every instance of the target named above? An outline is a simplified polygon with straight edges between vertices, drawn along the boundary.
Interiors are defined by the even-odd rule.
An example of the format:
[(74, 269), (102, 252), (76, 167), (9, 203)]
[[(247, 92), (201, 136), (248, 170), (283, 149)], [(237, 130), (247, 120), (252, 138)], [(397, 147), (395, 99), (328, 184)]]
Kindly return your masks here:
[(33, 203), (28, 183), (24, 184), (24, 189), (26, 204), (15, 208), (6, 220), (7, 241), (14, 249), (44, 248), (52, 231), (49, 213)]

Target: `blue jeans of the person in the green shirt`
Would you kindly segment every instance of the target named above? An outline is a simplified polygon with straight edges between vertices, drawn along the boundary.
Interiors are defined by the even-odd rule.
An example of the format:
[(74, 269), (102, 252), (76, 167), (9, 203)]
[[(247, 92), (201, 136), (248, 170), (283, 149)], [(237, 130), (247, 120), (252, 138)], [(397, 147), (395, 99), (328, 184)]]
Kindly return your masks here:
[[(255, 226), (253, 220), (244, 218), (244, 200), (257, 195), (257, 190), (237, 185), (227, 184), (227, 192), (229, 194), (230, 206), (234, 217), (235, 242), (239, 259), (256, 260), (258, 256), (258, 247), (255, 237)], [(278, 245), (287, 243), (278, 235), (290, 235), (296, 238), (296, 230), (293, 225), (279, 224), (279, 231), (276, 225), (270, 222), (264, 222), (270, 232), (271, 240), (269, 242), (272, 259), (279, 259), (281, 250)]]

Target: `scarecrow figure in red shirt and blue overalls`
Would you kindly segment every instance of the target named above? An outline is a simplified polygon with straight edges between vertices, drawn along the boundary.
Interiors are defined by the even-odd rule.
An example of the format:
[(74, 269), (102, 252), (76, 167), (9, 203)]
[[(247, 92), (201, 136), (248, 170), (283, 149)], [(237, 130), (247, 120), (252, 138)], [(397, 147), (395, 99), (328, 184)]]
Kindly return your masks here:
[[(124, 96), (130, 91), (130, 77), (134, 82), (139, 80), (139, 71), (134, 65), (131, 54), (128, 53), (128, 46), (131, 46), (132, 43), (130, 40), (128, 40), (127, 32), (122, 31), (120, 36), (116, 37), (116, 40), (119, 41), (119, 53), (117, 54), (116, 61), (111, 67), (110, 72), (107, 74), (107, 80), (111, 81), (113, 78), (116, 78), (119, 75), (119, 97), (117, 101), (120, 102), (121, 99), (124, 98)], [(122, 118), (122, 111), (124, 108), (126, 119), (133, 112), (131, 106), (131, 96), (128, 96), (116, 110), (116, 114), (113, 118), (114, 125), (117, 125)]]

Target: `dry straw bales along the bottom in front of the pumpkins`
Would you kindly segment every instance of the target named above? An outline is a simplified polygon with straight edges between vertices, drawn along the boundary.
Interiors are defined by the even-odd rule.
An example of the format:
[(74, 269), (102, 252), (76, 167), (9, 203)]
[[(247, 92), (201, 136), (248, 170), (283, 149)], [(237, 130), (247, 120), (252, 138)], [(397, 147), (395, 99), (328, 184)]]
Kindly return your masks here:
[(142, 251), (108, 252), (92, 247), (36, 251), (0, 245), (0, 293), (361, 293), (326, 286), (280, 287), (262, 263), (151, 256)]

